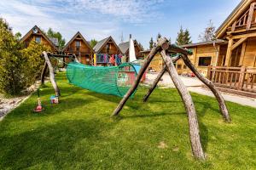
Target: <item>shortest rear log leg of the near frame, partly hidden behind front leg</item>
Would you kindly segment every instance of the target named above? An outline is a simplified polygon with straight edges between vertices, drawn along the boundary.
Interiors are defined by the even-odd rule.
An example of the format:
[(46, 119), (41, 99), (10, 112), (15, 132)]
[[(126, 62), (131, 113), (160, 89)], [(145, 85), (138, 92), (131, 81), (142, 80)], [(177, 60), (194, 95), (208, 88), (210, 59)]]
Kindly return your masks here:
[[(178, 59), (180, 59), (181, 56), (178, 55), (177, 57), (175, 58), (172, 58), (172, 62), (175, 63)], [(164, 76), (166, 72), (166, 65), (164, 65), (164, 67), (162, 68), (162, 70), (160, 71), (160, 73), (158, 74), (158, 76), (155, 78), (153, 84), (151, 85), (151, 87), (148, 89), (148, 93), (144, 96), (143, 98), (143, 102), (147, 102), (148, 101), (148, 98), (150, 96), (150, 94), (152, 94), (152, 92), (154, 91), (154, 88), (156, 88), (158, 82), (160, 81), (161, 77)]]

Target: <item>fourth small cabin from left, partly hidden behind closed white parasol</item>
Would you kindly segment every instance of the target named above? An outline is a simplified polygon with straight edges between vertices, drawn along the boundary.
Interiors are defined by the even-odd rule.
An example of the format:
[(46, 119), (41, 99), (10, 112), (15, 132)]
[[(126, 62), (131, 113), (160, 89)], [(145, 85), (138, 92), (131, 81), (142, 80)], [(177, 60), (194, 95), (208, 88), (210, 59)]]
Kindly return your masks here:
[[(143, 54), (141, 53), (142, 48), (139, 46), (137, 40), (134, 40), (133, 42), (134, 42), (135, 55), (137, 59), (143, 59)], [(119, 43), (119, 48), (122, 54), (125, 56), (129, 56), (129, 47), (130, 47), (130, 42)]]

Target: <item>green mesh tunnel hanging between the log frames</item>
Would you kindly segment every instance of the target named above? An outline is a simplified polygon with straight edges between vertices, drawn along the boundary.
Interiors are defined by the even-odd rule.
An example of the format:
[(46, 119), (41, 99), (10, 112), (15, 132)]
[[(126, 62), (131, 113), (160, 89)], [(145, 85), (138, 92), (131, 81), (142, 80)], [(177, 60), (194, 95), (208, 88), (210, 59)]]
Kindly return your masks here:
[(137, 71), (130, 63), (119, 66), (90, 66), (77, 62), (67, 65), (67, 79), (80, 88), (123, 97), (135, 81)]

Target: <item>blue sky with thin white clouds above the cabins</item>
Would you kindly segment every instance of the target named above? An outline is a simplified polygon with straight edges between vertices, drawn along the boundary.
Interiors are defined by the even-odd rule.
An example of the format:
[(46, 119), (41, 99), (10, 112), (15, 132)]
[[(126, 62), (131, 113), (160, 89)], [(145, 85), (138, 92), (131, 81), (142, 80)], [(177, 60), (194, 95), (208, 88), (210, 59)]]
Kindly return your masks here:
[(87, 41), (112, 36), (119, 43), (121, 35), (148, 48), (151, 37), (171, 37), (189, 29), (193, 42), (209, 20), (218, 28), (241, 0), (0, 0), (0, 17), (22, 36), (37, 25), (44, 31), (51, 27), (69, 41), (80, 31)]

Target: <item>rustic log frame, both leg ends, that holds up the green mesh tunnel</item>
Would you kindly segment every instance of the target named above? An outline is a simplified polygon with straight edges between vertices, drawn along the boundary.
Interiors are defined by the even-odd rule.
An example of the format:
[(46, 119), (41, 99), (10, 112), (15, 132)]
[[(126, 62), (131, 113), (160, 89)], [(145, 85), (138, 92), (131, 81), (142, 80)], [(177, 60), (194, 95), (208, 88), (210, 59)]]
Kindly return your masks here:
[[(157, 86), (157, 83), (160, 81), (161, 77), (165, 74), (167, 71), (172, 78), (172, 82), (174, 83), (175, 87), (177, 88), (178, 93), (180, 94), (184, 107), (186, 109), (186, 113), (188, 116), (189, 121), (189, 137), (190, 137), (190, 144), (192, 148), (193, 155), (197, 159), (204, 160), (205, 159), (205, 153), (201, 146), (201, 138), (200, 138), (200, 130), (199, 130), (199, 124), (197, 120), (197, 115), (195, 112), (195, 105), (194, 102), (189, 94), (188, 89), (184, 86), (183, 82), (181, 81), (180, 77), (178, 77), (177, 70), (174, 66), (174, 62), (176, 62), (178, 59), (183, 59), (185, 65), (189, 67), (189, 69), (194, 72), (195, 76), (198, 77), (201, 82), (203, 82), (212, 93), (215, 95), (216, 99), (218, 100), (218, 106), (220, 109), (220, 112), (224, 118), (225, 122), (230, 122), (230, 115), (229, 111), (227, 109), (227, 106), (225, 105), (223, 96), (219, 93), (218, 89), (215, 87), (215, 85), (208, 80), (206, 77), (201, 76), (200, 72), (195, 69), (195, 66), (191, 63), (191, 61), (188, 58), (188, 55), (191, 54), (189, 50), (184, 48), (179, 48), (176, 45), (170, 44), (166, 38), (161, 37), (156, 46), (151, 49), (151, 52), (148, 54), (147, 59), (145, 59), (141, 70), (138, 72), (135, 82), (131, 85), (131, 88), (128, 90), (128, 92), (125, 94), (123, 99), (119, 102), (119, 105), (116, 107), (116, 109), (113, 111), (112, 116), (118, 116), (119, 112), (124, 107), (126, 101), (131, 97), (131, 94), (135, 92), (137, 89), (141, 78), (143, 77), (144, 72), (147, 70), (148, 65), (154, 59), (154, 55), (160, 53), (162, 59), (165, 62), (165, 66), (160, 71), (159, 75), (154, 80), (154, 83), (152, 86), (148, 89), (148, 93), (144, 96), (143, 101), (147, 102), (150, 94), (154, 91), (154, 89)], [(177, 57), (171, 58), (169, 54), (177, 54)], [(54, 69), (50, 63), (49, 56), (53, 57), (71, 57), (68, 55), (61, 55), (61, 54), (49, 54), (47, 52), (43, 52), (42, 54), (45, 59), (44, 63), (44, 70), (42, 71), (41, 75), (41, 82), (44, 83), (44, 77), (45, 72), (47, 70), (47, 67), (49, 67), (49, 77), (50, 82), (52, 83), (53, 88), (55, 89), (56, 95), (61, 95), (60, 89), (57, 86), (57, 83), (55, 82), (55, 74)], [(73, 60), (77, 60), (75, 56), (72, 56)]]

